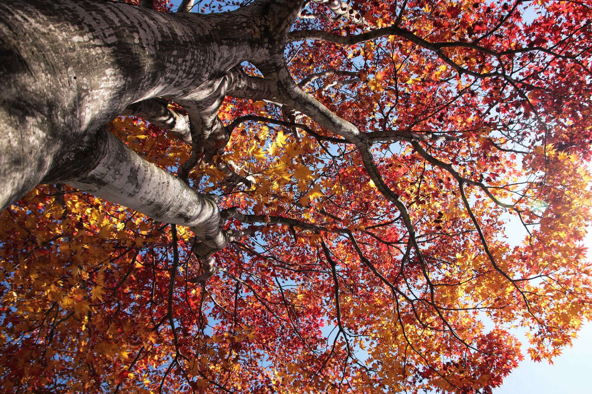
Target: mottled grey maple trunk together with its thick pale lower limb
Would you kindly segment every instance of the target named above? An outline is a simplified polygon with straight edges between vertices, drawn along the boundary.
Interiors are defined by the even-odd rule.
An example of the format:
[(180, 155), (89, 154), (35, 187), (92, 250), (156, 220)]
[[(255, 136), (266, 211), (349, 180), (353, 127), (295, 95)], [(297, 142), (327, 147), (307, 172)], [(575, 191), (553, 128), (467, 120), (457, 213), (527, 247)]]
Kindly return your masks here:
[[(133, 103), (172, 98), (189, 113), (194, 151), (200, 145), (210, 157), (228, 138), (217, 118), (224, 95), (255, 94), (260, 84), (229, 71), (245, 60), (281, 67), (301, 5), (257, 0), (200, 15), (111, 1), (0, 0), (1, 209), (38, 183), (69, 183), (156, 220), (191, 226), (202, 240), (200, 256), (211, 262), (227, 238), (216, 198), (144, 161), (104, 125)], [(278, 58), (280, 66), (268, 65)], [(152, 113), (149, 104), (127, 110)], [(189, 141), (187, 133), (182, 138)]]

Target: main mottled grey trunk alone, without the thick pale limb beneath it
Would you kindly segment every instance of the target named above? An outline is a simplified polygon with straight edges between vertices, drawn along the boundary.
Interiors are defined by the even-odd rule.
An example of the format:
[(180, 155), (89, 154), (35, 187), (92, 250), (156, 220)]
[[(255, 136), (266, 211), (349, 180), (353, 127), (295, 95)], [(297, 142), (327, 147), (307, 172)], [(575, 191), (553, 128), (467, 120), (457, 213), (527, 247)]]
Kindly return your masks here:
[(75, 176), (86, 157), (76, 153), (130, 103), (207, 96), (214, 76), (252, 53), (249, 31), (230, 21), (234, 45), (220, 45), (229, 38), (220, 19), (111, 2), (0, 3), (2, 208), (43, 180)]

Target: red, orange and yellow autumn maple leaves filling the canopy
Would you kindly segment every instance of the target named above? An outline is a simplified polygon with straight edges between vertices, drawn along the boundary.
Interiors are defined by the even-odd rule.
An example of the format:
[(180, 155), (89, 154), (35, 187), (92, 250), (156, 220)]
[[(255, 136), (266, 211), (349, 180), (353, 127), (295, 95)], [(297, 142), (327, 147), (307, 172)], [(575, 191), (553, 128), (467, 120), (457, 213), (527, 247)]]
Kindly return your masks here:
[[(2, 212), (4, 392), (489, 393), (523, 357), (571, 344), (592, 315), (592, 4), (351, 3), (363, 23), (314, 3), (293, 30), (400, 31), (295, 39), (285, 58), (296, 82), (327, 71), (304, 89), (374, 138), (415, 233), (355, 146), (273, 102), (227, 97), (226, 124), (302, 127), (240, 123), (189, 175), (242, 214), (225, 228), (247, 233), (207, 282), (191, 281), (191, 230), (68, 185)], [(199, 7), (218, 5), (234, 6)], [(169, 172), (189, 158), (140, 118), (111, 130)], [(230, 162), (253, 184), (224, 183), (217, 164)]]

